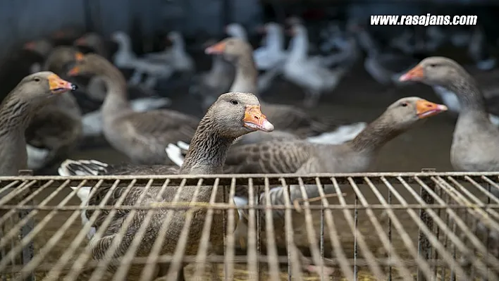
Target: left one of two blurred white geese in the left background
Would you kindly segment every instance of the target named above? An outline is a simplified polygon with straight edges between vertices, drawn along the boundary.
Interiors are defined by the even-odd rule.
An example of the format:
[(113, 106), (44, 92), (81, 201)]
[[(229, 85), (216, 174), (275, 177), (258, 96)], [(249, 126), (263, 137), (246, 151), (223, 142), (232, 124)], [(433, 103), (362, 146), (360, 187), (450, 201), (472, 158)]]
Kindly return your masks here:
[(173, 68), (165, 63), (157, 63), (146, 58), (137, 58), (132, 51), (130, 37), (125, 32), (114, 32), (112, 37), (118, 44), (118, 51), (113, 56), (113, 63), (118, 68), (131, 68), (135, 72), (130, 78), (131, 85), (138, 85), (142, 80), (142, 75), (147, 75), (144, 82), (146, 87), (152, 88), (156, 85), (158, 78), (168, 78), (173, 74)]

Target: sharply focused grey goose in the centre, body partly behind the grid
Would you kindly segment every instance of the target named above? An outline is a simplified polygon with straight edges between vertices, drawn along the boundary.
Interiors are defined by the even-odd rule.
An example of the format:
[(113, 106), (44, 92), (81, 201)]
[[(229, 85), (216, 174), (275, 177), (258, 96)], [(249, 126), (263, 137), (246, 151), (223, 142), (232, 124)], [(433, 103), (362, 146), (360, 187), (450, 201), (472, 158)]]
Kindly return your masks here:
[[(226, 157), (227, 150), (230, 144), (242, 135), (245, 135), (256, 130), (262, 130), (265, 132), (271, 132), (273, 130), (273, 125), (266, 119), (260, 111), (259, 101), (253, 94), (247, 93), (227, 93), (222, 94), (217, 101), (209, 108), (204, 118), (199, 123), (197, 127), (195, 137), (192, 138), (191, 146), (187, 152), (185, 163), (180, 169), (176, 170), (168, 166), (109, 166), (105, 163), (99, 163), (98, 161), (73, 161), (68, 160), (61, 165), (59, 168), (60, 175), (95, 175), (95, 174), (111, 174), (111, 175), (164, 175), (178, 173), (180, 175), (207, 175), (207, 174), (221, 174), (223, 172), (223, 162)], [(76, 189), (76, 187), (72, 187)], [(166, 192), (158, 196), (159, 189), (161, 187), (151, 187), (150, 189), (144, 189), (143, 187), (135, 187), (130, 191), (127, 191), (126, 187), (118, 187), (113, 191), (113, 196), (111, 196), (111, 201), (105, 204), (114, 204), (123, 192), (128, 192), (125, 195), (125, 200), (123, 205), (149, 205), (156, 202), (171, 202), (171, 201), (192, 201), (197, 187), (187, 186), (181, 187), (180, 189), (167, 189)], [(82, 189), (87, 189), (85, 192), (81, 192)], [(200, 192), (196, 196), (197, 202), (211, 202), (211, 187), (202, 187)], [(228, 194), (223, 194), (223, 189), (216, 195), (216, 201), (223, 201), (223, 196), (228, 196)], [(90, 187), (82, 187), (78, 192), (79, 196), (83, 197), (82, 204), (96, 206), (101, 204), (101, 199), (104, 198), (106, 192), (109, 188), (101, 188), (91, 190)], [(179, 191), (179, 192), (178, 192)], [(92, 194), (92, 195), (91, 195)], [(143, 195), (143, 196), (141, 196)], [(85, 197), (87, 196), (87, 197)], [(142, 201), (142, 198), (149, 198)], [(81, 198), (80, 197), (80, 198)], [(158, 198), (159, 197), (159, 198)], [(173, 216), (171, 223), (168, 225), (170, 230), (182, 230), (185, 221), (187, 220), (188, 211), (168, 211), (163, 209), (159, 213), (155, 213), (152, 219), (152, 223), (147, 227), (147, 239), (141, 239), (139, 249), (137, 250), (137, 256), (144, 256), (149, 253), (152, 249), (156, 237), (159, 235), (159, 230), (162, 228), (161, 225), (165, 224), (168, 220), (168, 216)], [(144, 218), (147, 211), (138, 211), (137, 218)], [(92, 211), (86, 211), (86, 214), (82, 216), (92, 216)], [(99, 230), (99, 222), (101, 222), (106, 216), (106, 212), (101, 213), (101, 217), (97, 218), (96, 223), (92, 225)], [(190, 235), (187, 241), (187, 247), (185, 249), (186, 255), (196, 254), (199, 246), (199, 242), (202, 235), (202, 228), (204, 225), (204, 220), (206, 219), (206, 211), (198, 211), (193, 222), (190, 225)], [(127, 218), (127, 213), (123, 212), (116, 216), (109, 225), (109, 227), (104, 230), (104, 238), (92, 236), (90, 246), (92, 247), (92, 256), (94, 259), (99, 260), (104, 258), (106, 255), (106, 250), (111, 245), (113, 237), (116, 232), (120, 231), (123, 227), (123, 221)], [(236, 215), (236, 221), (238, 216)], [(87, 220), (88, 221), (88, 220)], [(227, 221), (227, 218), (215, 214), (213, 225), (211, 227), (212, 232), (210, 235), (211, 246), (215, 250), (223, 249), (223, 236), (225, 233), (225, 225), (223, 222)], [(128, 246), (132, 244), (135, 235), (133, 233), (137, 232), (138, 228), (142, 224), (142, 219), (135, 220), (135, 222), (128, 228), (128, 234), (121, 240), (121, 246), (116, 252), (116, 256), (123, 256), (128, 250)], [(161, 247), (161, 254), (173, 254), (175, 248), (178, 244), (180, 237), (178, 233), (168, 232), (167, 236), (164, 237), (164, 244)], [(181, 262), (180, 262), (181, 263)], [(162, 272), (166, 273), (167, 268), (162, 268)], [(139, 271), (140, 272), (140, 271)], [(126, 274), (126, 273), (125, 273)], [(159, 274), (159, 269), (156, 268), (152, 277), (156, 277)], [(176, 280), (184, 280), (183, 270)], [(173, 280), (174, 276), (168, 275), (168, 279)], [(130, 273), (128, 273), (128, 279), (130, 279)]]

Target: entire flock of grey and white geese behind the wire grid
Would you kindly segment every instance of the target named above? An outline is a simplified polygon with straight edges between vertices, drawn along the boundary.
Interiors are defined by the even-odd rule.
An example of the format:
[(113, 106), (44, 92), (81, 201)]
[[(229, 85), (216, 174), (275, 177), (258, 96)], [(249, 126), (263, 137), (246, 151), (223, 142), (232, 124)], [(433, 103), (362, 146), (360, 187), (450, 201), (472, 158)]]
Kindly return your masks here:
[[(347, 125), (310, 115), (296, 106), (267, 103), (259, 97), (259, 81), (268, 78), (265, 75), (269, 73), (282, 74), (305, 89), (305, 104), (315, 104), (322, 92), (338, 85), (342, 75), (357, 60), (357, 47), (363, 44), (369, 44), (371, 50), (364, 64), (376, 80), (394, 85), (421, 82), (455, 96), (459, 117), (450, 151), (455, 170), (499, 170), (499, 128), (491, 121), (481, 84), (460, 64), (450, 58), (433, 56), (407, 65), (405, 72), (385, 68), (385, 57), (395, 59), (395, 55), (376, 49), (369, 32), (361, 25), (336, 29), (334, 32), (338, 34), (333, 38), (337, 51), (327, 58), (311, 57), (307, 50), (307, 29), (297, 19), (290, 20), (290, 25), (293, 37), (288, 50), (283, 48), (282, 27), (276, 23), (265, 25), (266, 41), (258, 49), (252, 49), (247, 35), (237, 24), (228, 26), (230, 37), (207, 46), (205, 53), (213, 56), (213, 68), (209, 73), (198, 75), (195, 87), (190, 89), (209, 101), (206, 114), (200, 120), (160, 108), (168, 105), (168, 99), (155, 96), (151, 89), (159, 80), (174, 73), (195, 72), (178, 32), (168, 35), (173, 46), (141, 57), (133, 54), (130, 38), (124, 32), (112, 36), (118, 43), (118, 51), (112, 57), (104, 47), (104, 40), (95, 34), (76, 39), (74, 46), (51, 46), (46, 40), (26, 44), (27, 49), (39, 54), (44, 52), (46, 60), (33, 65), (34, 73), (21, 80), (0, 105), (3, 120), (0, 175), (17, 175), (18, 170), (43, 166), (66, 156), (82, 137), (97, 135), (104, 135), (106, 142), (128, 156), (129, 163), (110, 165), (90, 159), (67, 159), (58, 168), (59, 175), (364, 172), (387, 142), (422, 120), (448, 111), (450, 106), (417, 96), (405, 97), (393, 102), (369, 125)], [(75, 47), (82, 45), (92, 48), (92, 52), (82, 54)], [(121, 68), (133, 70), (129, 80)], [(259, 75), (259, 70), (266, 72)], [(234, 78), (228, 80), (231, 71)], [(101, 101), (101, 106), (84, 111), (78, 102), (80, 94)], [(71, 188), (76, 190), (82, 206), (113, 206), (117, 201), (135, 206), (158, 201), (214, 203), (228, 198), (222, 189), (212, 196), (212, 187)], [(334, 189), (326, 186), (325, 192), (333, 193)], [(499, 194), (499, 189), (494, 188), (494, 193)], [(290, 194), (292, 201), (300, 198), (300, 187), (291, 186)], [(0, 199), (5, 196), (8, 197), (8, 193), (0, 194)], [(248, 204), (248, 196), (245, 187), (238, 187), (234, 202), (225, 203), (244, 206)], [(307, 196), (319, 196), (316, 186), (307, 186)], [(271, 204), (283, 204), (283, 187), (271, 189), (269, 198)], [(266, 199), (261, 196), (259, 204), (266, 204)], [(137, 243), (135, 235), (146, 212), (135, 212), (127, 235), (120, 237), (118, 247), (112, 246), (116, 244), (113, 239), (121, 231), (129, 211), (116, 214), (109, 225), (102, 225), (107, 213), (101, 212), (87, 235), (93, 258), (109, 256), (110, 248), (116, 249), (111, 253), (113, 256), (125, 255), (129, 247)], [(82, 211), (82, 223), (88, 223), (92, 213)], [(191, 226), (185, 254), (197, 254), (207, 212), (199, 210), (195, 216), (188, 213), (156, 212), (145, 233), (142, 232), (136, 254), (147, 256), (160, 233), (164, 235), (161, 254), (173, 253), (186, 221), (191, 221)], [(214, 215), (210, 235), (214, 252), (223, 251), (223, 230), (226, 229), (223, 222), (228, 221), (223, 216), (227, 215)], [(236, 236), (245, 236), (248, 216), (242, 210), (236, 213)], [(166, 220), (170, 223), (166, 224)], [(276, 229), (284, 227), (280, 211), (273, 213), (273, 220)], [(297, 216), (293, 223), (297, 233), (302, 227), (300, 221), (302, 218)], [(165, 225), (168, 226), (166, 232), (161, 230)], [(304, 241), (296, 241), (308, 241), (301, 240)], [(499, 241), (489, 245), (497, 248)], [(304, 262), (304, 266), (310, 271), (325, 272), (310, 263)], [(161, 265), (149, 274), (156, 277), (166, 272), (168, 265)], [(183, 270), (176, 277), (184, 280)]]

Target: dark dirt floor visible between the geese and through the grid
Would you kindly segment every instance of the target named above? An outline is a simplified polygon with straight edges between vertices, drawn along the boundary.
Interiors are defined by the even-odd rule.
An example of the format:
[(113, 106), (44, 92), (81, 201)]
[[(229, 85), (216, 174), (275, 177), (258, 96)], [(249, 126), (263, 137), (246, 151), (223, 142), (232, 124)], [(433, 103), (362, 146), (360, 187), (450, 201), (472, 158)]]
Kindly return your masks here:
[[(300, 104), (303, 94), (294, 86), (287, 85), (284, 82), (278, 82), (278, 86), (276, 86), (276, 88), (278, 89), (271, 90), (268, 94), (263, 96), (262, 99), (265, 101), (285, 104)], [(350, 75), (348, 75), (341, 83), (340, 87), (338, 87), (338, 89), (336, 89), (333, 93), (324, 94), (320, 106), (318, 106), (318, 108), (314, 108), (313, 111), (314, 113), (324, 114), (335, 118), (352, 120), (352, 122), (369, 122), (380, 115), (388, 105), (393, 103), (393, 101), (405, 96), (420, 96), (424, 99), (428, 99), (429, 101), (440, 102), (429, 87), (424, 85), (411, 85), (398, 89), (388, 89), (378, 85), (374, 82), (374, 80), (368, 77), (362, 68), (358, 68), (357, 70), (352, 71), (352, 73), (350, 73)], [(172, 108), (179, 110), (185, 109), (185, 111), (192, 112), (195, 111), (193, 108), (197, 108), (197, 105), (195, 105), (193, 101), (190, 101), (186, 94), (176, 93)], [(373, 170), (419, 171), (421, 168), (436, 168), (438, 171), (451, 170), (449, 151), (453, 126), (454, 120), (447, 114), (429, 118), (426, 123), (421, 124), (421, 126), (414, 128), (414, 130), (411, 130), (405, 135), (402, 135), (388, 143), (381, 151)], [(77, 154), (73, 155), (72, 158), (94, 158), (108, 163), (119, 163), (126, 160), (121, 154), (113, 151), (113, 149), (79, 151)], [(63, 199), (63, 197), (67, 196), (69, 192), (69, 189), (66, 192), (61, 192), (61, 194), (57, 196), (58, 199), (55, 199), (54, 202), (56, 200)], [(370, 199), (374, 199), (374, 194), (372, 192), (369, 194), (366, 194), (366, 196), (368, 196), (368, 200), (369, 196), (371, 196)], [(40, 196), (39, 199), (42, 199), (43, 196), (46, 196), (47, 194), (41, 195), (42, 196)], [(78, 199), (74, 198), (69, 202), (70, 205), (78, 205), (79, 203)], [(37, 218), (41, 220), (45, 215), (46, 213), (39, 213)], [(37, 235), (37, 238), (35, 239), (35, 247), (44, 245), (44, 243), (46, 243), (47, 240), (54, 235), (56, 230), (58, 230), (58, 228), (66, 222), (69, 215), (69, 212), (59, 212), (56, 216), (54, 216), (54, 218), (51, 218), (47, 224), (47, 227), (45, 227), (44, 230)], [(402, 216), (402, 221), (404, 220), (403, 218), (408, 218), (408, 215), (405, 212), (400, 215)], [(372, 226), (370, 223), (367, 223), (368, 220), (365, 219), (365, 216), (365, 213), (359, 214), (359, 218), (363, 217), (364, 222), (367, 224), (364, 226), (363, 223), (359, 223), (359, 229), (365, 230), (362, 232), (367, 235), (367, 239), (369, 239), (369, 237), (372, 238), (371, 242), (373, 243), (369, 244), (374, 247), (374, 249), (371, 250), (376, 253), (378, 251), (376, 248), (380, 243), (379, 238), (370, 233)], [(343, 213), (338, 213), (338, 217), (345, 218)], [(362, 220), (359, 221), (362, 222)], [(352, 232), (344, 219), (338, 220), (337, 223), (338, 229), (343, 229), (345, 231), (341, 239), (342, 242), (345, 242), (345, 251), (348, 252), (348, 256), (352, 256), (352, 247), (354, 242), (351, 235)], [(386, 223), (386, 221), (384, 223)], [(75, 222), (68, 228), (66, 234), (58, 240), (56, 248), (51, 251), (51, 256), (57, 259), (58, 256), (60, 256), (60, 254), (68, 248), (68, 245), (71, 241), (73, 241), (75, 235), (77, 235), (79, 231), (80, 219), (78, 216)], [(409, 231), (412, 238), (415, 239), (417, 228), (414, 223), (412, 223), (412, 228), (409, 229)], [(395, 242), (395, 244), (396, 243), (397, 242)], [(400, 239), (398, 239), (398, 243), (401, 243)], [(51, 258), (47, 258), (47, 262), (54, 261), (51, 261)], [(219, 268), (222, 267), (219, 266)], [(236, 266), (235, 273), (235, 280), (247, 280), (248, 278), (247, 271), (244, 266)], [(363, 273), (360, 273), (359, 276), (362, 274)], [(283, 268), (282, 276), (283, 280), (287, 280), (285, 268)], [(316, 278), (317, 277), (307, 277), (305, 280), (313, 280)]]

